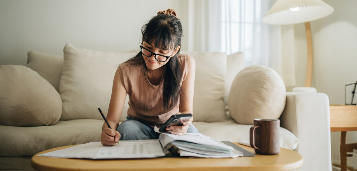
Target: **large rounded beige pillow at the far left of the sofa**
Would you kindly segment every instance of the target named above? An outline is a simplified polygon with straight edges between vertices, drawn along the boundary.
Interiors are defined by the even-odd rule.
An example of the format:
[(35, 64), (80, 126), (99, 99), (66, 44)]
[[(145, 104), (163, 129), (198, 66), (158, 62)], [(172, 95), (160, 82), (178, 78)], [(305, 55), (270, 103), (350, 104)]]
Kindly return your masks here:
[(1, 65), (0, 83), (0, 125), (52, 125), (60, 119), (60, 95), (37, 72), (21, 65)]

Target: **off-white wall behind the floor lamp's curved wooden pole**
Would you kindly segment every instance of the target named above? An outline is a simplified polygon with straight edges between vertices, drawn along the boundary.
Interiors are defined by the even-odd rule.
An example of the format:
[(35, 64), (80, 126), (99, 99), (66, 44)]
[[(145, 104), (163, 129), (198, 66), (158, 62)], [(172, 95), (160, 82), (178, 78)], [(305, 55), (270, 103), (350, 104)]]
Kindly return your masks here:
[[(345, 104), (345, 84), (357, 81), (357, 1), (323, 0), (335, 11), (311, 22), (313, 43), (312, 87), (325, 93), (330, 104)], [(307, 48), (304, 24), (294, 26), (296, 83), (305, 85)], [(357, 102), (355, 97), (354, 102)], [(340, 132), (331, 133), (332, 163), (340, 164)], [(346, 143), (357, 142), (357, 131), (347, 132)], [(323, 143), (323, 142), (321, 142)], [(347, 165), (357, 168), (357, 155)]]

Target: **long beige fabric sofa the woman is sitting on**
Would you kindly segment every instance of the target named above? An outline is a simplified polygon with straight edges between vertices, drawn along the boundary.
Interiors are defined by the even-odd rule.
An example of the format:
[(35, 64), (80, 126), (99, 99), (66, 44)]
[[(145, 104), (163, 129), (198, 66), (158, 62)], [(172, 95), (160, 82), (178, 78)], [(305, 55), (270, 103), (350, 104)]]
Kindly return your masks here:
[[(104, 121), (97, 108), (106, 115), (116, 67), (138, 52), (101, 52), (67, 44), (63, 56), (29, 51), (26, 66), (0, 66), (0, 80), (6, 81), (0, 87), (0, 170), (33, 170), (31, 157), (40, 151), (100, 141)], [(249, 81), (238, 80), (238, 73), (246, 69), (243, 53), (180, 53), (192, 56), (196, 62), (193, 125), (214, 140), (249, 141), (252, 119), (247, 124), (233, 116), (235, 110), (249, 108), (242, 103), (237, 104), (238, 109), (229, 106), (235, 106), (236, 99), (249, 100), (230, 90), (237, 92), (242, 84), (253, 87)], [(250, 72), (245, 70), (249, 78)], [(280, 119), (280, 147), (304, 158), (298, 170), (331, 170), (327, 95), (286, 92), (285, 87), (278, 91), (283, 102), (269, 102), (269, 106), (275, 103), (281, 108), (275, 112), (276, 118), (262, 115), (268, 110), (264, 100), (254, 107), (260, 112), (240, 112), (240, 116)], [(121, 122), (126, 119), (128, 100)]]

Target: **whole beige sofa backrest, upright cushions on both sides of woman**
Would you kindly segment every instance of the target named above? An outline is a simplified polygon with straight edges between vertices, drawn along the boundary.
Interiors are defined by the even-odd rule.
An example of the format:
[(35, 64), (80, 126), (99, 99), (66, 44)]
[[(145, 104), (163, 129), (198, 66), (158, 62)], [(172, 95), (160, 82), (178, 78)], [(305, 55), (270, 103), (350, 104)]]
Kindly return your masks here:
[[(100, 107), (107, 114), (112, 79), (116, 69), (114, 66), (126, 61), (129, 57), (135, 56), (137, 51), (111, 53), (66, 45), (64, 52), (65, 58), (30, 51), (28, 53), (27, 66), (38, 72), (55, 88), (59, 87), (59, 89), (56, 89), (59, 91), (64, 103), (61, 120), (102, 119), (97, 108)], [(180, 53), (192, 56), (196, 62), (193, 103), (194, 121), (225, 121), (227, 94), (233, 78), (243, 68), (243, 54), (238, 52), (227, 57), (225, 53), (219, 52), (181, 51)], [(63, 58), (64, 63), (62, 62)], [(89, 62), (86, 60), (87, 58), (90, 58), (90, 61), (98, 60), (97, 62), (101, 62), (101, 67), (97, 67), (98, 63), (96, 62)], [(76, 71), (74, 68), (77, 67), (71, 66), (72, 64), (80, 64), (83, 69)], [(64, 71), (62, 71), (62, 68)], [(82, 73), (81, 71), (85, 69), (88, 70)], [(82, 77), (90, 74), (88, 72), (93, 72), (91, 74), (92, 77)], [(62, 73), (65, 75), (63, 78), (61, 78)], [(101, 81), (100, 87), (93, 84), (98, 80)], [(85, 86), (87, 88), (81, 91), (84, 88), (84, 84), (87, 85)], [(74, 89), (74, 91), (71, 92), (71, 89)], [(94, 98), (99, 96), (102, 96), (99, 98), (100, 100)], [(126, 120), (126, 112), (129, 108), (128, 101), (129, 98), (127, 97), (121, 121)]]

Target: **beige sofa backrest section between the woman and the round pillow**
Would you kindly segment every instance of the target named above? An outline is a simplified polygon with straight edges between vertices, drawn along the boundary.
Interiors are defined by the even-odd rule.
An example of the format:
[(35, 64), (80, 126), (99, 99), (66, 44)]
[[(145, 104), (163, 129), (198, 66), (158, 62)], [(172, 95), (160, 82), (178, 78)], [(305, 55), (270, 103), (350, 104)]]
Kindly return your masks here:
[[(223, 121), (223, 115), (225, 116), (224, 120), (230, 118), (228, 113), (228, 94), (234, 77), (244, 68), (244, 54), (237, 52), (226, 56), (226, 53), (221, 52), (181, 51), (180, 53), (192, 56), (196, 62), (193, 112), (195, 113), (195, 109), (201, 111), (202, 108), (206, 108), (215, 103), (213, 106), (218, 106), (218, 110), (212, 109), (207, 111), (206, 109), (205, 111), (207, 111), (207, 113), (205, 116), (202, 116), (204, 119), (201, 120), (201, 118), (199, 118), (200, 121)], [(206, 80), (208, 79), (207, 76), (205, 76), (207, 74), (213, 79)], [(202, 107), (195, 105), (195, 102), (205, 102), (206, 100), (209, 100), (209, 103), (203, 103)], [(222, 113), (222, 108), (225, 108), (224, 114)], [(217, 117), (220, 119), (217, 119)], [(208, 118), (213, 119), (211, 121)]]

